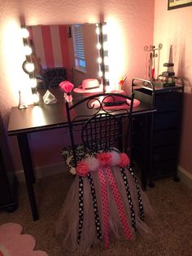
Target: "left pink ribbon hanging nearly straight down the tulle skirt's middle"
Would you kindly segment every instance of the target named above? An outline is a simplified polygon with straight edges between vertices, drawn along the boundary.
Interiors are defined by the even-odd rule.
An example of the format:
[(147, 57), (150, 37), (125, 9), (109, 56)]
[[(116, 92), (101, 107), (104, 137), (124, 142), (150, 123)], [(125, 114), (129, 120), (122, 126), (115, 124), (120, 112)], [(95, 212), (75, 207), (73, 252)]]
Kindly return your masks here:
[(98, 179), (101, 183), (102, 190), (102, 205), (103, 205), (103, 218), (104, 218), (104, 239), (105, 247), (109, 247), (109, 207), (108, 207), (108, 196), (107, 196), (107, 181), (103, 170), (99, 168), (98, 170)]

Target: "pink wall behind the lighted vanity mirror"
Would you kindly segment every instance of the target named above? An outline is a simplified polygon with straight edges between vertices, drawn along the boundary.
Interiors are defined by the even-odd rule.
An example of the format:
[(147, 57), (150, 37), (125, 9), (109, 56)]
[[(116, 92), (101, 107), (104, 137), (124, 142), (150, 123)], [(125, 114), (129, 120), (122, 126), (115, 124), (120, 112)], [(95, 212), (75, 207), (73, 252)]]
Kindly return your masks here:
[[(119, 2), (114, 0), (2, 1), (0, 108), (6, 128), (11, 107), (18, 104), (18, 90), (22, 88), (28, 93), (26, 86), (28, 76), (21, 68), (25, 56), (22, 51), (23, 41), (20, 37), (20, 20), (23, 24), (25, 20), (28, 25), (107, 21), (110, 28), (108, 39), (111, 73), (116, 74), (116, 77), (127, 73), (128, 79), (124, 90), (129, 90), (131, 79), (143, 77), (145, 73), (146, 55), (143, 47), (150, 45), (153, 41), (154, 4), (153, 0), (146, 0), (145, 4), (142, 0), (120, 0)], [(46, 133), (37, 133), (30, 137), (35, 166), (46, 165), (47, 159), (49, 162), (61, 161), (59, 158), (60, 138), (63, 138), (64, 143), (65, 132), (63, 130), (51, 132), (49, 137)], [(39, 147), (36, 148), (35, 145)], [(11, 138), (11, 147), (15, 168), (20, 170), (22, 168), (20, 154), (15, 138)]]

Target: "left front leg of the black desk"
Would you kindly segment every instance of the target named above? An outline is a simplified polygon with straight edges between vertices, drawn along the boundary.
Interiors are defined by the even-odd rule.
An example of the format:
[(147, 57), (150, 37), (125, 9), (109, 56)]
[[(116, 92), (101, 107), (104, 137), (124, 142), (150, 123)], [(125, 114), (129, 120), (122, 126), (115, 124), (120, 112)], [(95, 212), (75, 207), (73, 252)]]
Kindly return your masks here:
[(25, 182), (28, 189), (28, 198), (31, 205), (33, 220), (37, 220), (39, 216), (37, 212), (37, 204), (36, 204), (35, 194), (33, 190), (34, 175), (33, 175), (33, 165), (31, 161), (30, 150), (28, 146), (28, 135), (19, 134), (17, 135), (17, 140), (19, 143), (20, 157), (23, 163), (24, 177), (25, 177)]

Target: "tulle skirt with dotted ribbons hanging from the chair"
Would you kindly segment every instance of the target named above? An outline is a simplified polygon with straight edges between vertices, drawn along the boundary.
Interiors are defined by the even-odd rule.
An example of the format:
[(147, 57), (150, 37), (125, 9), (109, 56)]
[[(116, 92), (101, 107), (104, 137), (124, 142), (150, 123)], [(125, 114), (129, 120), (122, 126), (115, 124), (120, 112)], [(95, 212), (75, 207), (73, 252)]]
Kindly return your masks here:
[(115, 161), (94, 169), (86, 173), (84, 167), (82, 175), (76, 174), (63, 203), (56, 235), (64, 254), (78, 250), (82, 255), (97, 243), (107, 248), (111, 240), (133, 241), (137, 232), (151, 233), (145, 223), (152, 215), (151, 205), (131, 167)]

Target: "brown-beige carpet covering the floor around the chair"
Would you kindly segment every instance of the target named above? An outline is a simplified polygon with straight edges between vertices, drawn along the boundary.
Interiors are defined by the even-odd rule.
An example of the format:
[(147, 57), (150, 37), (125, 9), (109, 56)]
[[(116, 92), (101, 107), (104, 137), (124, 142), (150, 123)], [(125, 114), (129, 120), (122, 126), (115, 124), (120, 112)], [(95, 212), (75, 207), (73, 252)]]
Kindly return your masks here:
[[(25, 184), (20, 183), (19, 208), (14, 213), (0, 211), (0, 224), (20, 223), (24, 227), (23, 232), (35, 237), (36, 249), (45, 250), (49, 256), (64, 255), (55, 238), (55, 223), (71, 182), (70, 174), (37, 180), (35, 191), (40, 219), (36, 222), (32, 219)], [(90, 255), (192, 255), (192, 191), (183, 183), (175, 183), (168, 178), (156, 181), (155, 188), (147, 188), (146, 194), (155, 210), (150, 224), (151, 239), (138, 235), (136, 241), (119, 241), (107, 250), (92, 248)]]

